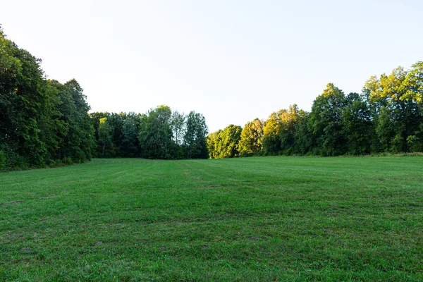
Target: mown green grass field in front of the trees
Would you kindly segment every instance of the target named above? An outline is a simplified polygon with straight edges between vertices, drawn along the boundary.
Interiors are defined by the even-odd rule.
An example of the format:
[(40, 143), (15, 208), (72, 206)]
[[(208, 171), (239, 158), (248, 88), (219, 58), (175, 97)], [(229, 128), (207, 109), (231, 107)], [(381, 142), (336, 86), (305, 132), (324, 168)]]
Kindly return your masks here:
[(423, 157), (0, 174), (0, 281), (423, 281)]

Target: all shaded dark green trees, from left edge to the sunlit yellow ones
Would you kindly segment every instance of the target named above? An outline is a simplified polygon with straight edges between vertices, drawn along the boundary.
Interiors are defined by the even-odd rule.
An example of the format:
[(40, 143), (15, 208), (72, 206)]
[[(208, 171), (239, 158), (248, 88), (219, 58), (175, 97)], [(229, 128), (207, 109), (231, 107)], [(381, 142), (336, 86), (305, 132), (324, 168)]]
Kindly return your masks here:
[(78, 82), (47, 79), (40, 63), (0, 26), (0, 171), (92, 157), (208, 157), (202, 114), (185, 116), (168, 106), (145, 114), (90, 114)]

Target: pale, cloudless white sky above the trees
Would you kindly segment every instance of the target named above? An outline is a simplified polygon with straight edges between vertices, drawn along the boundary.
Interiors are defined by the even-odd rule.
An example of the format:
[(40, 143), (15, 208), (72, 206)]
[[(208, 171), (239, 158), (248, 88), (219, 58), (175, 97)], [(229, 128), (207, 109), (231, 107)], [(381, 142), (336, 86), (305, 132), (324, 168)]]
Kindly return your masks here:
[(4, 0), (0, 23), (49, 78), (78, 80), (92, 111), (166, 104), (210, 131), (423, 60), (421, 0)]

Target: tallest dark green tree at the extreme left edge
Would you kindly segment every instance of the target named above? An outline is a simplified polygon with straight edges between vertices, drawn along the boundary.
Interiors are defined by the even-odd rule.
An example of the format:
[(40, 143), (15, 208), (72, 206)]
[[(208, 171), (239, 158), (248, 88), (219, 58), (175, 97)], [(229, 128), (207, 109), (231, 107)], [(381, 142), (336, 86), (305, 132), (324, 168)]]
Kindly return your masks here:
[(46, 154), (37, 121), (46, 106), (40, 61), (0, 34), (0, 147), (42, 165)]

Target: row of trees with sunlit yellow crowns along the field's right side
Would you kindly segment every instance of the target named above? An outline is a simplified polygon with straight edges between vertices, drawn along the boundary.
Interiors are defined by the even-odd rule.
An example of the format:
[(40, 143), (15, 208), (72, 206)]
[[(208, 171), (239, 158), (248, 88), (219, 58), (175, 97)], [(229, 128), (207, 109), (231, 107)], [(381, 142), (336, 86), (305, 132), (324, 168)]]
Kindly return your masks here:
[(291, 105), (266, 121), (210, 133), (209, 157), (423, 152), (422, 96), (422, 61), (372, 76), (360, 94), (344, 94), (329, 83), (309, 112)]

